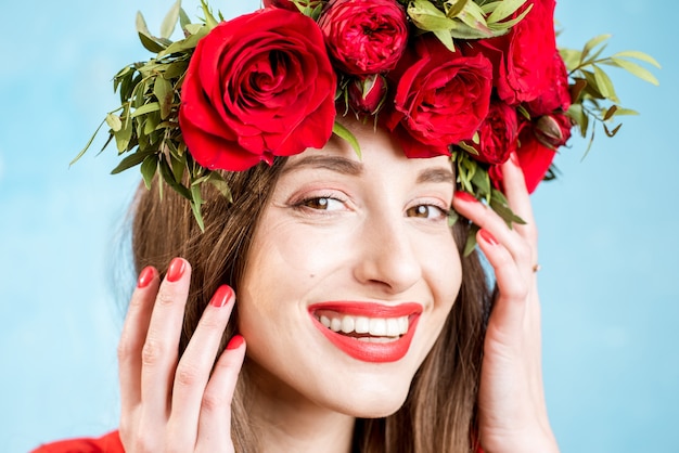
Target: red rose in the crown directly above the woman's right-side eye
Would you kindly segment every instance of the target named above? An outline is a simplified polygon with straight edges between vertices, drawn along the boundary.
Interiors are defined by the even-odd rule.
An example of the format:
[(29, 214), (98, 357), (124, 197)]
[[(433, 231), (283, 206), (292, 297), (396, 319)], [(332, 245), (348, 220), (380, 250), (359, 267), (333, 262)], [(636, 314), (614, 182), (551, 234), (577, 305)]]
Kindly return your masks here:
[(449, 154), (449, 145), (471, 139), (488, 114), (488, 59), (451, 53), (434, 35), (418, 39), (414, 53), (403, 55), (388, 77), (397, 86), (385, 126), (408, 157)]

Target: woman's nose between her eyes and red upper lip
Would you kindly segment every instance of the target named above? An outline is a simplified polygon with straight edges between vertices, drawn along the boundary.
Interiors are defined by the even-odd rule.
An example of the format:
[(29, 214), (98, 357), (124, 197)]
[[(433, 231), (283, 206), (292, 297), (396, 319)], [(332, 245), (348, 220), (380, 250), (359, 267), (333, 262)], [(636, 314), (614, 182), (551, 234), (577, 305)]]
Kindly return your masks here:
[(409, 226), (400, 219), (367, 219), (357, 245), (354, 275), (362, 284), (400, 294), (422, 277), (422, 266)]

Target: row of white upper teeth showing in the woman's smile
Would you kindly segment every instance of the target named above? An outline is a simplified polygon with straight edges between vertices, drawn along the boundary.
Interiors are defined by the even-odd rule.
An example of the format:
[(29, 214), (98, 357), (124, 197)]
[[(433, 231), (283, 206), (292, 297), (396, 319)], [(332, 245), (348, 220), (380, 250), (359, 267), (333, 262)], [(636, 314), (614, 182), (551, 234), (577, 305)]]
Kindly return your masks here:
[(408, 316), (370, 318), (322, 310), (316, 319), (330, 331), (367, 342), (390, 342), (408, 333)]

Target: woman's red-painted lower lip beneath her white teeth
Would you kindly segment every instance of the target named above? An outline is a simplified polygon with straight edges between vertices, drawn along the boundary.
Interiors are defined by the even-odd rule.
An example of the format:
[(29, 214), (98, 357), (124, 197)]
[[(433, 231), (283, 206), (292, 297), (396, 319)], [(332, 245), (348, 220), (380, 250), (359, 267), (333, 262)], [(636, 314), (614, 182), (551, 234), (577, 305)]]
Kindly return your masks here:
[(321, 324), (316, 316), (311, 318), (313, 320), (313, 325), (316, 325), (316, 327), (321, 331), (323, 335), (325, 335), (325, 338), (328, 338), (338, 349), (354, 359), (372, 363), (396, 362), (397, 360), (402, 359), (406, 353), (408, 353), (410, 342), (412, 341), (412, 337), (415, 333), (418, 321), (420, 320), (419, 314), (411, 315), (409, 319), (408, 332), (394, 341), (369, 342), (331, 331)]

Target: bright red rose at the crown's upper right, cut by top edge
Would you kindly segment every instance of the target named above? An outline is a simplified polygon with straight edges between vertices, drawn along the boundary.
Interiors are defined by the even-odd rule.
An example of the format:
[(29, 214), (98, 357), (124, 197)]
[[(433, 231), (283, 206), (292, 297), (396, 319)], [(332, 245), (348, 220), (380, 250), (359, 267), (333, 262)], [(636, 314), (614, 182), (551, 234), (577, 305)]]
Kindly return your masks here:
[(552, 83), (554, 0), (529, 0), (526, 5), (533, 5), (531, 10), (507, 35), (470, 41), (463, 48), (466, 54), (490, 59), (498, 95), (510, 105), (537, 99)]

